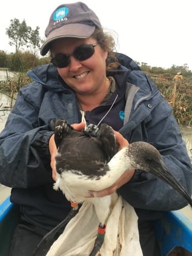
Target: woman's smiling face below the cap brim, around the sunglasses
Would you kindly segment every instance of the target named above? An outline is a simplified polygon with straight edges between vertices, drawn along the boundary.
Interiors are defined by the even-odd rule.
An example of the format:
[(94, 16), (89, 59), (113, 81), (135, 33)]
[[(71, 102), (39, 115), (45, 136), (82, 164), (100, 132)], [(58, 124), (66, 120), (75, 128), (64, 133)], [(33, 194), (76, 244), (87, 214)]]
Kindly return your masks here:
[[(58, 54), (70, 54), (82, 44), (96, 44), (96, 39), (65, 38), (58, 39), (51, 45), (53, 56)], [(58, 68), (59, 75), (65, 83), (79, 94), (94, 94), (100, 92), (106, 86), (106, 64), (107, 52), (101, 49), (100, 45), (94, 47), (93, 55), (79, 61), (73, 55), (70, 57), (67, 67)]]

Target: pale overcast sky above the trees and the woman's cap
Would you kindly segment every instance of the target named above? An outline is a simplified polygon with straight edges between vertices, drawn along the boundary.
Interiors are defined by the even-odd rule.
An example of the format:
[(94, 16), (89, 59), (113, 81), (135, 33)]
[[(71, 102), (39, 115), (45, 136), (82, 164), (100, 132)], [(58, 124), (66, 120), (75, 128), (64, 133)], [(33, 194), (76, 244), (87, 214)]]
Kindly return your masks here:
[[(0, 50), (14, 52), (5, 34), (11, 19), (24, 19), (44, 37), (58, 5), (76, 1), (5, 0), (0, 9)], [(98, 15), (102, 26), (117, 39), (117, 51), (151, 67), (188, 64), (192, 70), (191, 0), (82, 0)]]

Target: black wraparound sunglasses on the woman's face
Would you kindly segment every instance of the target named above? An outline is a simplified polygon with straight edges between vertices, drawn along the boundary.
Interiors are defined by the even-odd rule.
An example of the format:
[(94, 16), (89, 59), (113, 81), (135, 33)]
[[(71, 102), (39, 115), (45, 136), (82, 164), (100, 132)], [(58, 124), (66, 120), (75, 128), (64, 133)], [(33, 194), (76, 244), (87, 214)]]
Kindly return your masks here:
[(58, 54), (54, 58), (51, 59), (51, 62), (56, 67), (67, 67), (70, 64), (70, 56), (74, 56), (74, 58), (78, 59), (78, 61), (85, 61), (85, 59), (90, 58), (94, 53), (94, 47), (98, 45), (96, 44), (82, 44), (76, 47), (74, 51), (70, 54)]

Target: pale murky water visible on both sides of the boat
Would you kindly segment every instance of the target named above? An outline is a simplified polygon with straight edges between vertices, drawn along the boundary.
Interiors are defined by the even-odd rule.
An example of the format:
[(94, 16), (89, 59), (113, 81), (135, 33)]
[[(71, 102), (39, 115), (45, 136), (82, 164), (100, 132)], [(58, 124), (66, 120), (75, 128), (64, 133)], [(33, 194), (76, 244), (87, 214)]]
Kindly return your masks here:
[[(1, 71), (1, 70), (0, 70)], [(5, 121), (10, 113), (12, 100), (2, 93), (0, 93), (0, 132), (5, 126)], [(192, 127), (181, 128), (182, 135), (184, 137), (188, 154), (192, 161)], [(5, 187), (0, 184), (0, 203), (10, 194), (10, 187)], [(192, 221), (192, 210), (190, 206), (184, 207), (181, 210)]]

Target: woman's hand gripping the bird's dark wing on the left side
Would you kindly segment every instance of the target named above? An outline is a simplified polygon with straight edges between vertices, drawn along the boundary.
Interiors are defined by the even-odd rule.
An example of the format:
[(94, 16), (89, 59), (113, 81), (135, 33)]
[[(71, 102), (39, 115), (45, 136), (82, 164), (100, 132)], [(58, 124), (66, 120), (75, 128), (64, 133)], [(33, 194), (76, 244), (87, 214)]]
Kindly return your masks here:
[[(83, 130), (85, 127), (85, 123), (79, 123), (79, 124), (71, 124), (71, 126), (73, 127), (74, 130)], [(56, 153), (58, 151), (56, 144), (55, 144), (55, 134), (53, 133), (53, 135), (50, 136), (50, 139), (48, 141), (48, 149), (51, 155), (51, 169), (52, 169), (52, 178), (53, 180), (57, 180), (57, 172), (55, 169), (55, 156)]]

